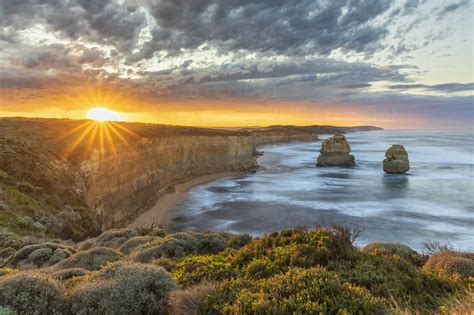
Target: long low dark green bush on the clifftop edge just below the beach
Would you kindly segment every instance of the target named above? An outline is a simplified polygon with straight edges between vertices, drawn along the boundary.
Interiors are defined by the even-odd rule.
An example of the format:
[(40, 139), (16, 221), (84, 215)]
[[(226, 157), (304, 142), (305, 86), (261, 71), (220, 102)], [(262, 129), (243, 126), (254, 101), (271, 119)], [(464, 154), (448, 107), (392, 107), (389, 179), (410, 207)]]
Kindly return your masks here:
[(176, 233), (162, 241), (150, 242), (133, 253), (136, 261), (147, 263), (160, 257), (183, 258), (192, 254), (214, 254), (227, 248), (218, 233)]

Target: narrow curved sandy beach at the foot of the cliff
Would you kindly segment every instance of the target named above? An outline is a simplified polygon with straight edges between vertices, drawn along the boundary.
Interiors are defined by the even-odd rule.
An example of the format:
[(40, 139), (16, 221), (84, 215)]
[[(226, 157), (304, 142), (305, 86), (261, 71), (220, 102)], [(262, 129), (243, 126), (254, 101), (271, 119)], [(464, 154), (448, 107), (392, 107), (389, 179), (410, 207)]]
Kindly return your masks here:
[(149, 210), (140, 214), (135, 221), (128, 225), (129, 228), (149, 227), (152, 224), (166, 226), (171, 218), (173, 209), (186, 198), (186, 193), (193, 187), (206, 184), (219, 178), (234, 176), (239, 172), (220, 172), (203, 175), (187, 182), (176, 184), (174, 192), (161, 197)]

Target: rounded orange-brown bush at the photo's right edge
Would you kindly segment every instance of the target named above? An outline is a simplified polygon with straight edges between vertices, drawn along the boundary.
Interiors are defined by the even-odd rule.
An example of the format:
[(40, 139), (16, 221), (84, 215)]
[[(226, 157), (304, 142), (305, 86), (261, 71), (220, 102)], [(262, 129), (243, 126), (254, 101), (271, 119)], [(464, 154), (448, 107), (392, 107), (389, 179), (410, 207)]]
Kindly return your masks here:
[(440, 275), (474, 277), (474, 253), (441, 251), (428, 258), (423, 270)]

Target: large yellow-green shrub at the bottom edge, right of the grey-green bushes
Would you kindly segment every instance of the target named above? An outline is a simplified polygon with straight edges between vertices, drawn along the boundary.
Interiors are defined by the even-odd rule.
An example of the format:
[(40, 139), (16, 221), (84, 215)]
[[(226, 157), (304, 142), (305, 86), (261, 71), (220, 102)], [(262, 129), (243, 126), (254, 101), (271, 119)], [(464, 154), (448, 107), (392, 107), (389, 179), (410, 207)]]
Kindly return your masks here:
[(293, 268), (268, 279), (231, 280), (217, 286), (206, 311), (226, 314), (381, 314), (383, 299), (341, 282), (322, 267)]

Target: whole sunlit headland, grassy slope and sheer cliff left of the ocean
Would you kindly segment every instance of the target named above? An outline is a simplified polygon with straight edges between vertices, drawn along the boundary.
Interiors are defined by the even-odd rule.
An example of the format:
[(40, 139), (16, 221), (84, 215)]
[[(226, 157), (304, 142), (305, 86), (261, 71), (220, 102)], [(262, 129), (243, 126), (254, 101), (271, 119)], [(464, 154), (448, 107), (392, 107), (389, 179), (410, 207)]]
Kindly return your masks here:
[(246, 132), (0, 119), (0, 232), (82, 239), (123, 226), (174, 184), (257, 166)]

